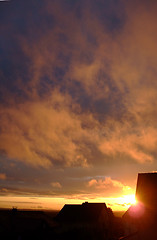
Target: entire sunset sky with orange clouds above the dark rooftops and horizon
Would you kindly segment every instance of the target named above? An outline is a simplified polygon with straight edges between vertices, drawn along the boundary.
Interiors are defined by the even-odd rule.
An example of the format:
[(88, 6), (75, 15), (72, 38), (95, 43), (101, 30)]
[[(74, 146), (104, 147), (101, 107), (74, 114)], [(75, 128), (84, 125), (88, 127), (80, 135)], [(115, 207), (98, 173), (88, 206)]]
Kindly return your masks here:
[(0, 208), (127, 209), (157, 170), (157, 1), (0, 1)]

